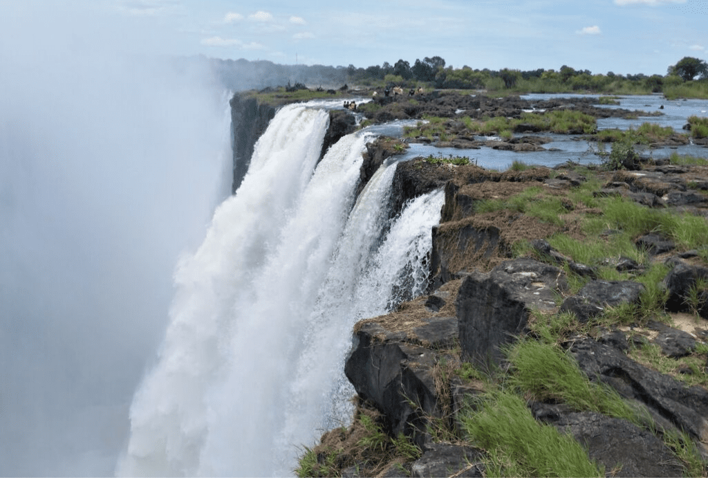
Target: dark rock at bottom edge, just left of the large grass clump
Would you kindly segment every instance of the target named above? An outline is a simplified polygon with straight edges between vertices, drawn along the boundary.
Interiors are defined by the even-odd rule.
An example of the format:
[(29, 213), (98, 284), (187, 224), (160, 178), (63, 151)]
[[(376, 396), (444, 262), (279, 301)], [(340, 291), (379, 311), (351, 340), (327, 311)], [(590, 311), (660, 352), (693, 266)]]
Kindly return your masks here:
[(447, 443), (431, 443), (411, 466), (411, 476), (484, 477), (484, 457), (480, 450)]

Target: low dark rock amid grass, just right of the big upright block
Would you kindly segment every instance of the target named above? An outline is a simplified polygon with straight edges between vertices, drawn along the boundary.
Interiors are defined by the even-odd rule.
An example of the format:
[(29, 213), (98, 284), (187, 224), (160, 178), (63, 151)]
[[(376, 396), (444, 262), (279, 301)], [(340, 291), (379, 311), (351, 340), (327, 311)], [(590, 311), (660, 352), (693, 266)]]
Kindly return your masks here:
[(573, 312), (578, 321), (586, 322), (607, 306), (639, 301), (643, 290), (644, 284), (631, 280), (591, 280), (576, 295), (563, 301), (561, 312)]

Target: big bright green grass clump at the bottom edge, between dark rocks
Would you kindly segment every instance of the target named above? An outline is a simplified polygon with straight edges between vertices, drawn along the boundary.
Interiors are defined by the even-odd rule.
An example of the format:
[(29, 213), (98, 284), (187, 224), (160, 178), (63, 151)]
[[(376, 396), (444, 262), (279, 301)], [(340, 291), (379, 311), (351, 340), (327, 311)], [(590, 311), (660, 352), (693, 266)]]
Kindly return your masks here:
[(489, 392), (479, 410), (460, 417), (469, 440), (487, 451), (486, 476), (602, 477), (571, 436), (537, 422), (523, 399), (511, 392)]

